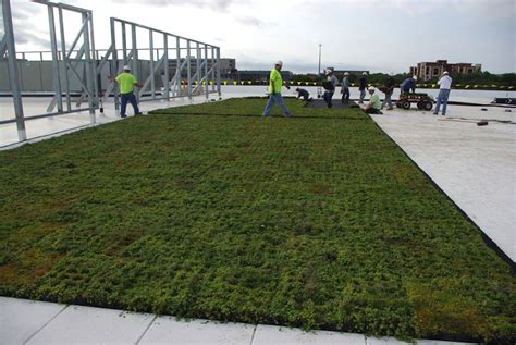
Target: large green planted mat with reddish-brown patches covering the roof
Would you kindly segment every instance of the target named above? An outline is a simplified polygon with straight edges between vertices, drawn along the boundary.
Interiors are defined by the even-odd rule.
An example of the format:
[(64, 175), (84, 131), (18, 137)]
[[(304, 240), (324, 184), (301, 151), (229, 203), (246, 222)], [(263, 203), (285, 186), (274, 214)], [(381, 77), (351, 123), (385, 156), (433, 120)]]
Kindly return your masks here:
[(511, 342), (512, 268), (357, 109), (157, 110), (0, 152), (0, 294)]

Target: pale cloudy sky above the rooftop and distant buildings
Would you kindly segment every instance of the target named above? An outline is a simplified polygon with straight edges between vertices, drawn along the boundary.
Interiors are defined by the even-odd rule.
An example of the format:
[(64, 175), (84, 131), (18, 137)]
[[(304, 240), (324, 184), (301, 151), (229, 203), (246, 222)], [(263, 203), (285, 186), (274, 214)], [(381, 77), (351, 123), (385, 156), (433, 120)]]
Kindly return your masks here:
[[(269, 70), (282, 60), (284, 70), (315, 73), (322, 45), (321, 67), (336, 70), (401, 73), (444, 59), (481, 63), (491, 73), (516, 72), (516, 0), (61, 2), (93, 10), (97, 48), (109, 47), (114, 16), (219, 46), (238, 70)], [(11, 8), (16, 50), (50, 50), (46, 7), (11, 0)], [(78, 20), (65, 20), (71, 36)]]

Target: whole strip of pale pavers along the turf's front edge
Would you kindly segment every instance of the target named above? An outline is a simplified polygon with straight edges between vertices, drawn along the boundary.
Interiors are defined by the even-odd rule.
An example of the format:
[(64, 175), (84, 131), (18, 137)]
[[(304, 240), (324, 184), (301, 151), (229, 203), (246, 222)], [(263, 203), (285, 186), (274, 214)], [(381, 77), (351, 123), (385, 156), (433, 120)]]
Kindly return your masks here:
[[(394, 337), (275, 325), (176, 320), (149, 313), (0, 297), (0, 344), (407, 345)], [(466, 345), (417, 341), (420, 345)]]

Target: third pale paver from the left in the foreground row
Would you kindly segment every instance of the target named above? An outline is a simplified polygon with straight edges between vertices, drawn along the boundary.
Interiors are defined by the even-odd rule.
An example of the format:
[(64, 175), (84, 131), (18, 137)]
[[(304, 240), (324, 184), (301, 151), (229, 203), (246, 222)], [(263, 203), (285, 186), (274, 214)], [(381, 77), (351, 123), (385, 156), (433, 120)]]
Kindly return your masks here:
[(138, 344), (228, 344), (249, 345), (255, 325), (219, 323), (208, 320), (176, 320), (157, 318)]

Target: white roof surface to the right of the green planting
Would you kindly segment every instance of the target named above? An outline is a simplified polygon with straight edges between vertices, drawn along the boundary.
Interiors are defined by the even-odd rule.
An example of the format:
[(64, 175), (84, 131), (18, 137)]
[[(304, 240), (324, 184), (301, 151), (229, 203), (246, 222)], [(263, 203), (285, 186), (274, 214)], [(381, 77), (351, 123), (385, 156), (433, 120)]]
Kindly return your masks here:
[[(454, 119), (515, 121), (504, 108), (449, 107)], [(516, 111), (516, 109), (514, 109)], [(371, 116), (444, 193), (516, 260), (516, 125), (443, 121), (431, 112)], [(453, 119), (452, 119), (453, 120)]]

